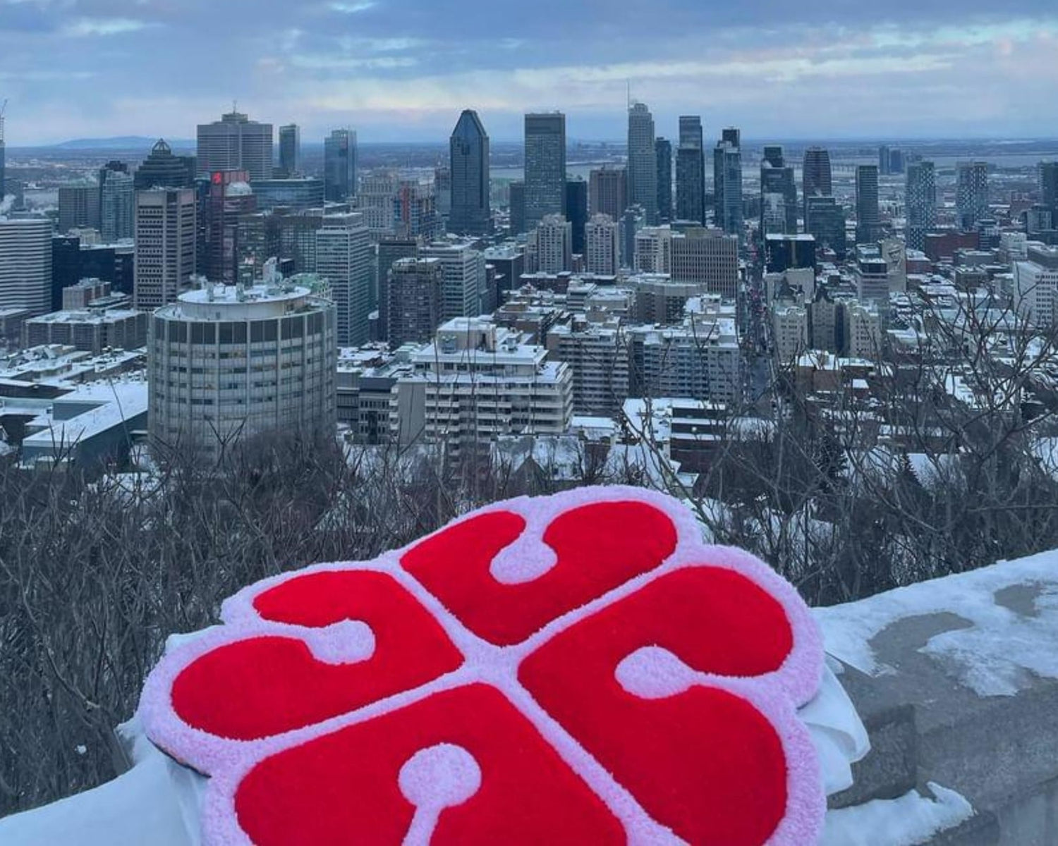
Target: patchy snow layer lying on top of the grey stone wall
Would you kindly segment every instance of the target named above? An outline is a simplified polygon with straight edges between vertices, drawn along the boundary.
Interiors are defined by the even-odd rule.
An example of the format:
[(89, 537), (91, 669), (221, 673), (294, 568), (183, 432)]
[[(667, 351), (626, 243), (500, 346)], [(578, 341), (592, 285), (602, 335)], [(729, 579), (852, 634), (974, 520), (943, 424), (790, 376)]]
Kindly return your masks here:
[[(997, 600), (1003, 590), (1038, 589), (1032, 613)], [(872, 599), (815, 609), (826, 651), (871, 676), (892, 672), (872, 639), (900, 620), (951, 613), (970, 626), (932, 638), (920, 651), (943, 660), (979, 696), (1014, 696), (1029, 674), (1058, 679), (1058, 552), (1003, 562), (911, 585)]]

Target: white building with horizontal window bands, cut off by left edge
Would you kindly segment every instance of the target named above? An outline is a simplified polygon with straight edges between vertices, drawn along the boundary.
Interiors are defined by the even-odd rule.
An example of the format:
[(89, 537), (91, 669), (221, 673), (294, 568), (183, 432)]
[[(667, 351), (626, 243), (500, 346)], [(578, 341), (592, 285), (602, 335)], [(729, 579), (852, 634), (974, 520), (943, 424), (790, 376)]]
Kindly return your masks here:
[(0, 309), (44, 314), (52, 306), (52, 222), (0, 218)]

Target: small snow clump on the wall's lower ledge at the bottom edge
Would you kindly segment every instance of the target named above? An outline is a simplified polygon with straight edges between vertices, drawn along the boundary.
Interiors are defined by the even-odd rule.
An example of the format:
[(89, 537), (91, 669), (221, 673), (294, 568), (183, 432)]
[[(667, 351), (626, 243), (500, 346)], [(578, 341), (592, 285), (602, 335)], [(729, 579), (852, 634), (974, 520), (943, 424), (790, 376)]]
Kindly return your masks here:
[(914, 846), (973, 815), (953, 790), (929, 783), (935, 799), (912, 790), (898, 799), (875, 799), (826, 814), (821, 846)]

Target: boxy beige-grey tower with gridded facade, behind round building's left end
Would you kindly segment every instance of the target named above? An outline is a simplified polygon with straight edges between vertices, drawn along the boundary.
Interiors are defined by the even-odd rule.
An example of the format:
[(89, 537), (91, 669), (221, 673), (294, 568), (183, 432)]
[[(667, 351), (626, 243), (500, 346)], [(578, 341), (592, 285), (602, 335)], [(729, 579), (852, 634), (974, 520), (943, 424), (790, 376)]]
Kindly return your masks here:
[(138, 309), (176, 301), (190, 283), (196, 258), (196, 201), (190, 188), (151, 188), (135, 195)]

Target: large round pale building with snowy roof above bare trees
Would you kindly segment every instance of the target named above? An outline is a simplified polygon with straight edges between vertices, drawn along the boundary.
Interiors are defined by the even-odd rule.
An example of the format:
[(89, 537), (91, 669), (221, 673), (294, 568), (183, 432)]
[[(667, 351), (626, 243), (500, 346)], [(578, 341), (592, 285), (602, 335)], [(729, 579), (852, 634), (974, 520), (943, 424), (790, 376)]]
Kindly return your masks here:
[(333, 304), (310, 288), (212, 286), (150, 320), (150, 437), (216, 460), (266, 431), (311, 438), (335, 427)]

